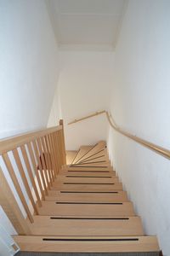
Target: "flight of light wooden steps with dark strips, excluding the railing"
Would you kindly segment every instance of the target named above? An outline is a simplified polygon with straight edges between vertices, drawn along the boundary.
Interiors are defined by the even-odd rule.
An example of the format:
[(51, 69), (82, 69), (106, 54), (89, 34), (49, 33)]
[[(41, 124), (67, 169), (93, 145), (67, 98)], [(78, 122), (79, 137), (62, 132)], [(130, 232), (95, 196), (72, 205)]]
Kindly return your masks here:
[(72, 253), (159, 252), (156, 236), (144, 236), (141, 218), (128, 201), (108, 159), (105, 142), (67, 152), (32, 236), (14, 236), (21, 250)]

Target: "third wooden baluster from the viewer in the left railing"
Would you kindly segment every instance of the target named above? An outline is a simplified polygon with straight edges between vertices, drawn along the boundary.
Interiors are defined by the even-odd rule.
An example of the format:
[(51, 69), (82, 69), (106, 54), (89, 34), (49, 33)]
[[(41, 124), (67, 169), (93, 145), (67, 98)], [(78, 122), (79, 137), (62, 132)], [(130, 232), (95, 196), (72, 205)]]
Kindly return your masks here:
[(26, 169), (27, 169), (27, 171), (28, 171), (28, 175), (29, 175), (29, 177), (30, 177), (30, 179), (31, 179), (32, 187), (33, 187), (33, 189), (34, 189), (34, 191), (35, 191), (35, 194), (36, 194), (36, 197), (37, 197), (37, 204), (38, 204), (39, 207), (42, 207), (42, 202), (41, 202), (39, 193), (38, 193), (38, 191), (37, 191), (37, 185), (36, 185), (34, 176), (33, 176), (33, 174), (32, 174), (30, 161), (29, 161), (28, 155), (27, 155), (27, 153), (26, 153), (26, 146), (25, 146), (25, 145), (22, 145), (22, 146), (20, 147), (20, 149), (21, 149), (21, 153), (22, 153), (22, 156), (23, 156), (24, 161), (25, 161), (25, 164), (26, 164)]

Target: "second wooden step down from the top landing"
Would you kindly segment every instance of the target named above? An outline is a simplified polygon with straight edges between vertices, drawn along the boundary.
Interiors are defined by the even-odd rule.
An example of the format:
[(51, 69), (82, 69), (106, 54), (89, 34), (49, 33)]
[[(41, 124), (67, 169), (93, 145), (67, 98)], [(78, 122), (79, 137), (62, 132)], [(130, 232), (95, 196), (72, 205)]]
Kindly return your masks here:
[(143, 236), (139, 217), (72, 218), (35, 216), (31, 234), (36, 236)]

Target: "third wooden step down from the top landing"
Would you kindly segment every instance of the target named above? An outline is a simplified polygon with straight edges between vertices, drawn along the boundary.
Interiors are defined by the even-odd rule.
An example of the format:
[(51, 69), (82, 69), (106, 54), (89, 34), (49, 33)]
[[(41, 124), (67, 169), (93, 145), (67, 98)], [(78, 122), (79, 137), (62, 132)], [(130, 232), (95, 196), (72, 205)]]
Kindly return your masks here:
[(115, 202), (110, 204), (103, 203), (77, 203), (59, 202), (59, 201), (42, 201), (42, 207), (38, 208), (39, 215), (48, 216), (134, 216), (132, 202)]

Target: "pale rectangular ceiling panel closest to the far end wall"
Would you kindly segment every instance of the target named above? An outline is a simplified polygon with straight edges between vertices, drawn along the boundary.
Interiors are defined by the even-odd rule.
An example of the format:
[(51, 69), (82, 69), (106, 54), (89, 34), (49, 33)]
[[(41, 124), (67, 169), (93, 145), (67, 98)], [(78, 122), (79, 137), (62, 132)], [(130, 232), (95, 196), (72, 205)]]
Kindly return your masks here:
[(116, 15), (60, 15), (60, 44), (111, 44), (116, 36)]

